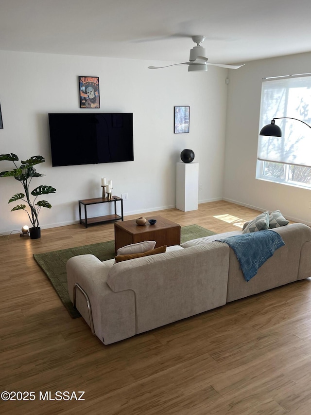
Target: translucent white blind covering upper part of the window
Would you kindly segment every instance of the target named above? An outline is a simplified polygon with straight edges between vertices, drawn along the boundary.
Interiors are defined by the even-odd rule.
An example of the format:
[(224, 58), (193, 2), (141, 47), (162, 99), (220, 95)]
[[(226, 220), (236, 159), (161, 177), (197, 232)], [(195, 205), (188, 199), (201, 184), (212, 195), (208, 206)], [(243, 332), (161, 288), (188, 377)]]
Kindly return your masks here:
[[(311, 74), (263, 80), (259, 131), (276, 117), (311, 125)], [(276, 124), (282, 137), (259, 136), (258, 159), (311, 167), (311, 129), (290, 119)]]

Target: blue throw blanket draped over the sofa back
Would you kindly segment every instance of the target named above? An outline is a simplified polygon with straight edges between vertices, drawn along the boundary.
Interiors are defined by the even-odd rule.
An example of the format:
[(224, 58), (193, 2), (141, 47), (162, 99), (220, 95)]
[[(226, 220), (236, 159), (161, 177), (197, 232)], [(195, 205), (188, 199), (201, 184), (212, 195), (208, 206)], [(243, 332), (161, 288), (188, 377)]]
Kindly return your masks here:
[(270, 258), (273, 253), (285, 245), (281, 236), (270, 230), (252, 232), (242, 235), (228, 236), (217, 239), (225, 242), (233, 249), (246, 281), (257, 274), (259, 267)]

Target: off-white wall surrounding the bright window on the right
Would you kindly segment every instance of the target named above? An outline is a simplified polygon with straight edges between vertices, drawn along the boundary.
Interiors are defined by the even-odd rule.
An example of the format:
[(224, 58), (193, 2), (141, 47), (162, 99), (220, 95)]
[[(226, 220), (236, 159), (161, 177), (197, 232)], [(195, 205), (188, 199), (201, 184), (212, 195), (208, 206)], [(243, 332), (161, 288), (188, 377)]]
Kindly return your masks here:
[[(259, 210), (280, 211), (311, 224), (311, 190), (256, 180), (261, 80), (309, 73), (311, 53), (247, 62), (230, 72), (228, 89), (224, 193), (225, 200)], [(311, 140), (311, 135), (310, 135)]]

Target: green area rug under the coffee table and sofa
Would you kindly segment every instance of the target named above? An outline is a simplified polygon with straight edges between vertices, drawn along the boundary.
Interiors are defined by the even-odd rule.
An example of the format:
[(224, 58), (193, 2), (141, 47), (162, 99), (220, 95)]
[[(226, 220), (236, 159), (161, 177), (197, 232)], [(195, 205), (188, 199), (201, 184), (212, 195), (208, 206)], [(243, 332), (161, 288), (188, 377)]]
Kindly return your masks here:
[[(191, 239), (215, 235), (198, 225), (183, 226), (181, 228), (181, 243)], [(57, 292), (64, 306), (72, 318), (80, 317), (80, 313), (73, 308), (67, 288), (66, 262), (72, 256), (91, 253), (101, 261), (115, 257), (115, 241), (101, 242), (97, 244), (78, 246), (74, 248), (61, 249), (46, 253), (35, 253), (34, 258), (49, 278), (52, 287)]]

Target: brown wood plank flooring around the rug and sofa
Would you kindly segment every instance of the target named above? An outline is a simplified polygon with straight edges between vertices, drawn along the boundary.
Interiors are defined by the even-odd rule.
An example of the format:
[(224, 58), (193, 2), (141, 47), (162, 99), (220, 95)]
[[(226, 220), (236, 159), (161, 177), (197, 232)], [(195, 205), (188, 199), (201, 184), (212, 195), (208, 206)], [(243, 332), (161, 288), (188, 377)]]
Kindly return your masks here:
[[(221, 233), (258, 213), (218, 201), (145, 216)], [(0, 400), (0, 414), (311, 414), (310, 280), (104, 346), (71, 319), (33, 253), (113, 238), (113, 223), (0, 237), (0, 392), (35, 392)]]

